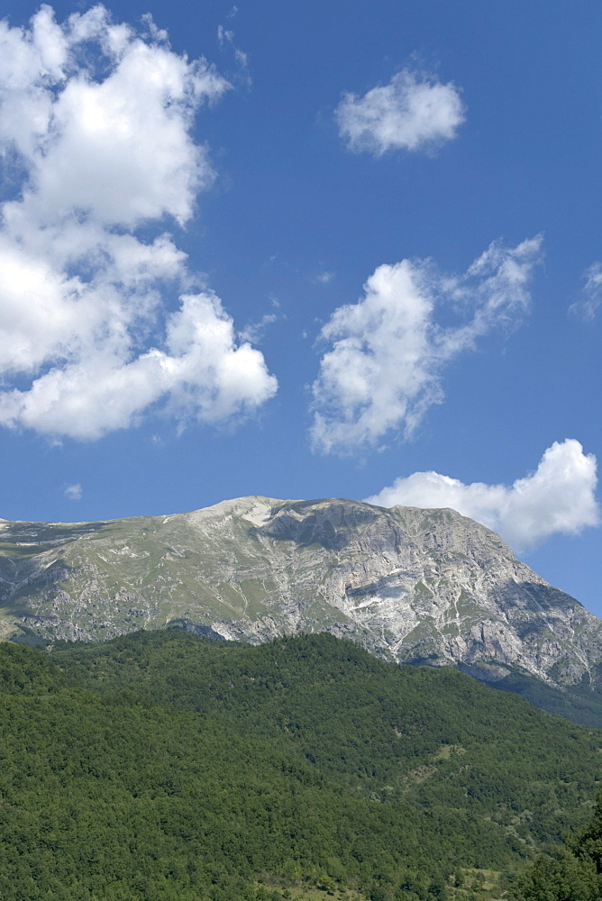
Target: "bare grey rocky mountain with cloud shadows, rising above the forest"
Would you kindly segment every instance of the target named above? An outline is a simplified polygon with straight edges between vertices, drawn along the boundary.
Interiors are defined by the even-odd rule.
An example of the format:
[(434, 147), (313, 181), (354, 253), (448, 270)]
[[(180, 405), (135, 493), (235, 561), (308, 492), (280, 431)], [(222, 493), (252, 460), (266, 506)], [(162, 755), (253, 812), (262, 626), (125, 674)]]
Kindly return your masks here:
[(602, 623), (453, 510), (253, 496), (187, 514), (1, 525), (5, 637), (179, 624), (258, 643), (325, 631), (602, 724)]

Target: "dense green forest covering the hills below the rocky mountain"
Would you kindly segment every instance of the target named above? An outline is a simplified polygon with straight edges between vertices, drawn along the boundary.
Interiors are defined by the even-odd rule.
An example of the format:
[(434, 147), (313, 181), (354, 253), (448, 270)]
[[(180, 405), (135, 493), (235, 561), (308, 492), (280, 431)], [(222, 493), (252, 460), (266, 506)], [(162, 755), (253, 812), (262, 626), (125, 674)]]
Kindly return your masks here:
[(600, 733), (325, 634), (5, 643), (0, 687), (3, 899), (475, 898), (602, 778)]

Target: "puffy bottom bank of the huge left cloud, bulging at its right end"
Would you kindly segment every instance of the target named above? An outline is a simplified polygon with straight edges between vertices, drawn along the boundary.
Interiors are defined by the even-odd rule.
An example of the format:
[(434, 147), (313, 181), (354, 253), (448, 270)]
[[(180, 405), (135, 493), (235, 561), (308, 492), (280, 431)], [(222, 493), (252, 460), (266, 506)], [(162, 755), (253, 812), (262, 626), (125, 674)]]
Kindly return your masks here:
[(166, 350), (128, 361), (112, 344), (50, 369), (27, 391), (0, 394), (0, 422), (94, 439), (135, 425), (160, 400), (180, 424), (218, 423), (252, 412), (275, 391), (260, 351), (236, 346), (232, 319), (206, 292), (182, 297), (167, 323)]

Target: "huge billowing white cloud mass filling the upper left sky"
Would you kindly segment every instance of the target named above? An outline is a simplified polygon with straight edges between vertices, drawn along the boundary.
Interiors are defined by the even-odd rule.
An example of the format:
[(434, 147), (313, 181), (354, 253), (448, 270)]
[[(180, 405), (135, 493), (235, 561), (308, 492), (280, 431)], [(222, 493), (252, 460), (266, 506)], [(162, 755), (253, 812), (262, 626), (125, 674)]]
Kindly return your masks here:
[(186, 254), (164, 231), (166, 217), (190, 220), (214, 178), (191, 130), (229, 85), (174, 53), (150, 16), (143, 25), (114, 24), (102, 5), (62, 24), (50, 6), (29, 28), (0, 23), (7, 427), (97, 438), (151, 405), (218, 422), (276, 391), (219, 298), (190, 290)]

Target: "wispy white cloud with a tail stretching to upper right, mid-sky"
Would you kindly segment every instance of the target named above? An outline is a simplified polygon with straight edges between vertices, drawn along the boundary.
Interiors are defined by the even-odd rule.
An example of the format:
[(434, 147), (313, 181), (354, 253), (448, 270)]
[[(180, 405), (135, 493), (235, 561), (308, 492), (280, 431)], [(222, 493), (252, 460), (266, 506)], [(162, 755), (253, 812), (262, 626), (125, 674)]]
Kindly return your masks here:
[[(333, 348), (313, 385), (315, 449), (350, 452), (392, 429), (410, 437), (442, 401), (445, 364), (524, 314), (541, 248), (541, 236), (515, 248), (493, 243), (461, 277), (443, 275), (430, 260), (379, 266), (365, 296), (335, 310), (320, 334)], [(459, 324), (439, 324), (441, 313), (456, 314)]]

